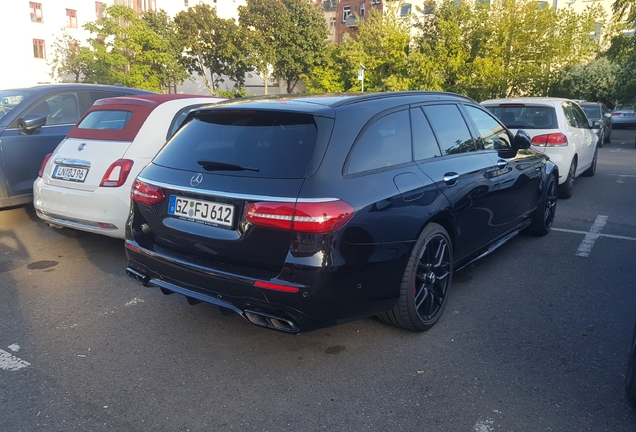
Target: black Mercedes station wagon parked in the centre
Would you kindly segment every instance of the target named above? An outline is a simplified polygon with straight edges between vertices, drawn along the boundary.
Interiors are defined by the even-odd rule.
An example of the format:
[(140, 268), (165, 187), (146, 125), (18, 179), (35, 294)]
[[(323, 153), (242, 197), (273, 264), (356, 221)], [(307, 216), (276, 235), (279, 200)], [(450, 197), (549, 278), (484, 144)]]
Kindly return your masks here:
[(298, 333), (423, 331), (453, 271), (545, 235), (557, 168), (475, 101), (396, 92), (199, 108), (137, 177), (127, 273)]

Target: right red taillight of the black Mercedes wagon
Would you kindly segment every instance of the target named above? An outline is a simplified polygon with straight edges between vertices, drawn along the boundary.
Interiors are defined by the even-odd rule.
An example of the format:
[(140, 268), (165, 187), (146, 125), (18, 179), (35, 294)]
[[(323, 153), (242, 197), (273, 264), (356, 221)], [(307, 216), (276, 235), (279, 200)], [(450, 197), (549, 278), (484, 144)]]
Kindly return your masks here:
[(344, 201), (256, 202), (245, 206), (245, 217), (254, 225), (316, 234), (337, 230), (353, 213), (353, 207)]

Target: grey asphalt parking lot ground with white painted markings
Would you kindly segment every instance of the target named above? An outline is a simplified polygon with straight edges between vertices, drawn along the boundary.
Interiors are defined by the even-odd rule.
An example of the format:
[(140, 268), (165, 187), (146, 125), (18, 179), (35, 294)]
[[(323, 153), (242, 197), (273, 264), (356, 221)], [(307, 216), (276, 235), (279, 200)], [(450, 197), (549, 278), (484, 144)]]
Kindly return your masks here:
[(2, 431), (636, 431), (636, 131), (458, 272), (440, 322), (291, 336), (124, 275), (123, 242), (0, 211)]

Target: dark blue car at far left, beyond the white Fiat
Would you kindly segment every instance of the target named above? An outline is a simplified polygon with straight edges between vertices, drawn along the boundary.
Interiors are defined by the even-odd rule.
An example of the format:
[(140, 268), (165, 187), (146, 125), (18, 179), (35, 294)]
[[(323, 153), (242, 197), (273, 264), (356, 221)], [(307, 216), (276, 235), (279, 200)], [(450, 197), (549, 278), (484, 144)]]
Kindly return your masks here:
[(44, 157), (98, 99), (145, 90), (96, 84), (50, 84), (0, 90), (0, 208), (33, 199)]

